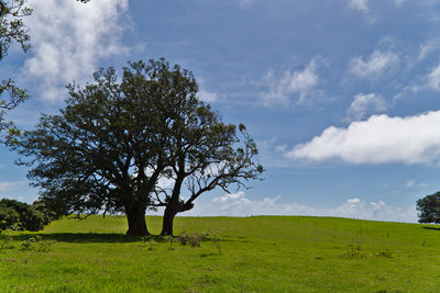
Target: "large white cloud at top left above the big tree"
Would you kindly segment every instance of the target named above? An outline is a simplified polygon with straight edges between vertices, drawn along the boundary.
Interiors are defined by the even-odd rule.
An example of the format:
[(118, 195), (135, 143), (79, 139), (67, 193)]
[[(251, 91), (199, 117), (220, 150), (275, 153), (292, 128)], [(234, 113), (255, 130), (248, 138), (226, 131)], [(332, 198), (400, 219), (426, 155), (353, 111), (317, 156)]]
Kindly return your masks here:
[(26, 77), (41, 84), (47, 100), (63, 99), (66, 83), (84, 82), (97, 70), (98, 61), (123, 55), (124, 26), (121, 18), (128, 0), (79, 1), (33, 0), (31, 27), (33, 57), (25, 61)]

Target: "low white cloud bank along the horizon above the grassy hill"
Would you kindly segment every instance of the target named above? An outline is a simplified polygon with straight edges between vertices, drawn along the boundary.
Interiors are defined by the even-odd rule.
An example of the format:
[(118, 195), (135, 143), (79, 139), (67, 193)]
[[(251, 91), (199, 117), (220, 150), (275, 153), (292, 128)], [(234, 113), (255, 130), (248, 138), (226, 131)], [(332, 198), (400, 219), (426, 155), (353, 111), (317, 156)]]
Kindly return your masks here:
[(205, 216), (250, 216), (250, 215), (308, 215), (339, 216), (362, 219), (416, 222), (416, 210), (387, 205), (383, 201), (364, 202), (358, 198), (349, 199), (336, 207), (317, 209), (296, 203), (282, 203), (282, 196), (251, 200), (244, 192), (224, 194), (210, 203), (199, 204), (187, 215)]

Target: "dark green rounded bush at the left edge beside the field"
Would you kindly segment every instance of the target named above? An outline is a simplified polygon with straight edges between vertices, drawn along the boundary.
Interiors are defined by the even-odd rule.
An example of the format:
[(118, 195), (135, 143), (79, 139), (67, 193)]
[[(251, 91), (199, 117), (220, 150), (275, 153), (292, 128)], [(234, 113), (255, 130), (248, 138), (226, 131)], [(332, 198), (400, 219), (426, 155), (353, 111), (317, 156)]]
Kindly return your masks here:
[(15, 200), (0, 201), (0, 229), (41, 230), (47, 218), (32, 205)]

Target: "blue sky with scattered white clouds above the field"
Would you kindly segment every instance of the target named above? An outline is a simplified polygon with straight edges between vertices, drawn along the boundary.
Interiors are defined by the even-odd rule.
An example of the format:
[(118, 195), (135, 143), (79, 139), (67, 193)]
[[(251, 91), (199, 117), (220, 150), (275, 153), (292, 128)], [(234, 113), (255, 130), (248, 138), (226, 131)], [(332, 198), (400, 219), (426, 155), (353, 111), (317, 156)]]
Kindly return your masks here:
[[(204, 194), (186, 215), (417, 222), (416, 201), (439, 190), (438, 0), (28, 4), (33, 47), (0, 64), (31, 95), (8, 116), (21, 128), (57, 113), (67, 83), (160, 57), (194, 72), (223, 122), (246, 125), (264, 181)], [(0, 157), (0, 198), (35, 200), (18, 155)]]

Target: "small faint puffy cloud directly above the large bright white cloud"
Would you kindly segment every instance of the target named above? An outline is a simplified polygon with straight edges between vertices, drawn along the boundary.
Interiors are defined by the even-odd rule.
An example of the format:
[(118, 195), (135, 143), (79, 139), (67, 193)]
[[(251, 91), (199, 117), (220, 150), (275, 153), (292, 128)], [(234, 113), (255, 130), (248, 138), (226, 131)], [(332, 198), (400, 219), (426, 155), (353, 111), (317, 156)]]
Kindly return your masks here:
[(346, 114), (351, 120), (362, 120), (369, 113), (378, 113), (386, 110), (386, 101), (381, 95), (359, 93), (354, 97)]

